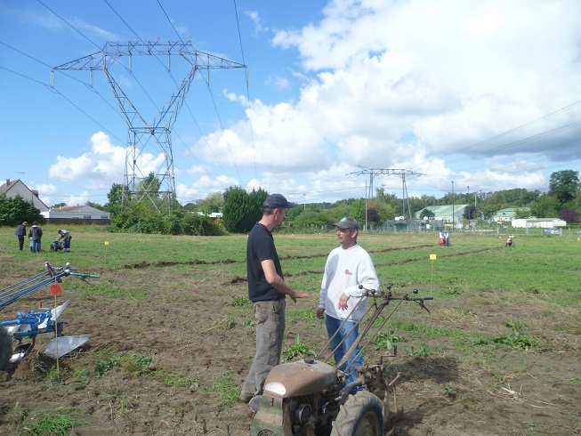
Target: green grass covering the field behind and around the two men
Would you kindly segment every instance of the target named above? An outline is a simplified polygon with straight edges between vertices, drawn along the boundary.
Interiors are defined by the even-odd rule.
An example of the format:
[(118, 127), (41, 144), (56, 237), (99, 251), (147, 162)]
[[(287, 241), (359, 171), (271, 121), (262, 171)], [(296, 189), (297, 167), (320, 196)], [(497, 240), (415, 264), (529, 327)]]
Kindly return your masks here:
[[(43, 229), (45, 235), (56, 234), (57, 230), (56, 226)], [(67, 312), (77, 319), (85, 316), (82, 302), (89, 299), (118, 307), (119, 311), (124, 310), (127, 301), (139, 304), (154, 301), (160, 308), (195, 308), (211, 292), (221, 299), (215, 309), (215, 324), (198, 326), (196, 319), (190, 318), (191, 312), (176, 311), (173, 318), (170, 309), (164, 316), (171, 316), (175, 328), (190, 332), (195, 341), (204, 341), (208, 332), (215, 331), (221, 335), (243, 333), (239, 337), (251, 342), (254, 339), (248, 330), (254, 327), (254, 317), (247, 298), (245, 235), (203, 238), (109, 233), (97, 227), (69, 230), (74, 237), (70, 255), (44, 252), (35, 256), (18, 252), (12, 228), (0, 229), (4, 272), (0, 288), (44, 270), (44, 261), (54, 266), (71, 262), (79, 271), (101, 275), (101, 279), (89, 279), (87, 283), (63, 279), (64, 294), (81, 303), (71, 305)], [(283, 353), (286, 360), (313, 354), (311, 348), (319, 351), (327, 340), (324, 321), (315, 317), (315, 309), (327, 254), (337, 242), (334, 232), (322, 233), (292, 235), (274, 231), (286, 282), (311, 294), (310, 299), (287, 304)], [(50, 240), (46, 238), (47, 243)], [(440, 247), (437, 235), (431, 233), (362, 233), (359, 244), (371, 254), (382, 289), (388, 284), (394, 293), (409, 293), (417, 288), (419, 296), (434, 297), (426, 303), (431, 314), (416, 304), (401, 305), (364, 351), (370, 363), (398, 344), (404, 357), (426, 360), (453, 357), (472, 370), (482, 369), (488, 376), (482, 388), (495, 389), (515, 377), (528, 375), (529, 368), (535, 366), (531, 351), (561, 353), (560, 356), (579, 352), (581, 241), (576, 237), (519, 235), (517, 246), (505, 249), (504, 238), (498, 239), (497, 235), (454, 234), (453, 246)], [(431, 261), (430, 254), (436, 254), (437, 259)], [(176, 287), (189, 292), (173, 293)], [(11, 309), (3, 311), (3, 320), (12, 314)], [(138, 313), (127, 315), (128, 319), (139, 318)], [(381, 325), (383, 316), (375, 327)], [(147, 328), (141, 319), (133, 324), (133, 332)], [(85, 332), (75, 333), (71, 327), (66, 332), (81, 333)], [(121, 375), (124, 380), (139, 383), (134, 379), (149, 377), (158, 385), (195, 389), (207, 395), (219, 393), (226, 405), (238, 400), (239, 374), (222, 371), (204, 380), (198, 372), (184, 375), (179, 367), (157, 367), (141, 352), (93, 350), (85, 356), (92, 359), (91, 367), (61, 367), (60, 375), (50, 368), (45, 372), (54, 381), (77, 376), (111, 383), (117, 380), (114, 375)], [(252, 356), (240, 359), (249, 362)], [(571, 375), (562, 367), (561, 372), (548, 369), (549, 373), (562, 384), (578, 387), (581, 383), (577, 373)], [(435, 389), (440, 396), (458, 400), (466, 394), (464, 386), (459, 386), (462, 385), (445, 381)], [(139, 403), (131, 394), (120, 394), (111, 400), (110, 407), (115, 416), (123, 416), (136, 410), (136, 404)], [(20, 410), (20, 422), (27, 421), (29, 415), (33, 414)]]

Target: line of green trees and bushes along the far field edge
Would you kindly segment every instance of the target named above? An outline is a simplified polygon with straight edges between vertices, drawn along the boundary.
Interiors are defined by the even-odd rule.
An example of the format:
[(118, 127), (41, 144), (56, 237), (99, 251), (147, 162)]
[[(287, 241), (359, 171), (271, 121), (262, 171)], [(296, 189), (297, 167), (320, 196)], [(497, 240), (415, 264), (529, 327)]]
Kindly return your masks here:
[[(115, 183), (107, 194), (107, 204), (88, 202), (87, 205), (111, 213), (112, 231), (215, 236), (224, 234), (224, 230), (230, 233), (250, 231), (260, 220), (262, 203), (269, 195), (262, 189), (248, 192), (242, 187), (231, 186), (197, 202), (181, 205), (170, 193), (161, 192), (160, 186), (155, 174), (150, 173), (135, 191)], [(422, 216), (430, 216), (428, 206), (464, 204), (468, 205), (464, 218), (476, 221), (488, 221), (498, 210), (514, 207), (517, 218), (559, 217), (576, 224), (581, 215), (580, 189), (578, 172), (564, 170), (551, 174), (546, 192), (522, 188), (470, 194), (448, 192), (441, 198), (424, 195), (408, 198), (405, 207), (407, 210), (409, 206), (413, 214), (421, 211)], [(295, 230), (308, 229), (329, 226), (343, 216), (352, 216), (359, 222), (376, 226), (402, 215), (403, 210), (401, 198), (378, 188), (371, 199), (348, 198), (334, 203), (296, 206), (288, 211), (283, 225)], [(213, 221), (208, 216), (212, 213), (222, 213), (222, 219)], [(0, 196), (0, 225), (16, 225), (23, 221), (42, 222), (42, 215), (20, 197)]]

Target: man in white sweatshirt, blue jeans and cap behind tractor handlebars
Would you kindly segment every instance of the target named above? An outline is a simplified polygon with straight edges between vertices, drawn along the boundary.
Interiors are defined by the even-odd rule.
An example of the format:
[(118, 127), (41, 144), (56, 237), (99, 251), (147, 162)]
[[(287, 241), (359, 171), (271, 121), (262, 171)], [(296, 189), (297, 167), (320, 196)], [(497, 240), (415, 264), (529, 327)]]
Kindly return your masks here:
[[(327, 334), (329, 338), (333, 338), (331, 350), (334, 351), (335, 363), (338, 364), (359, 335), (359, 326), (353, 326), (367, 311), (367, 297), (361, 295), (365, 292), (364, 289), (377, 290), (379, 280), (371, 257), (357, 243), (359, 223), (346, 216), (333, 225), (337, 228), (337, 239), (341, 246), (336, 247), (327, 257), (316, 313), (319, 319), (323, 318), (323, 313), (327, 315)], [(359, 289), (359, 285), (364, 289)], [(347, 322), (343, 324), (345, 319)], [(363, 357), (358, 355), (359, 347), (340, 368), (346, 373), (347, 384), (357, 380), (355, 368), (363, 365)]]

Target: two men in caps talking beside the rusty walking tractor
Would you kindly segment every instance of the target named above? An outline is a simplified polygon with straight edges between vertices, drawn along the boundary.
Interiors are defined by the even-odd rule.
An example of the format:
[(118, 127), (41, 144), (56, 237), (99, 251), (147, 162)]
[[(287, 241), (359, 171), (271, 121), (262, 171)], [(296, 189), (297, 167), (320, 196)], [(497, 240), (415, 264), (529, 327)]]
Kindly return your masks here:
[[(311, 296), (286, 284), (271, 233), (283, 222), (286, 211), (295, 206), (281, 194), (271, 194), (262, 205), (262, 219), (248, 235), (246, 271), (248, 297), (254, 303), (256, 352), (242, 385), (240, 400), (247, 402), (253, 410), (260, 403), (270, 369), (280, 363), (286, 295), (295, 303), (299, 298)], [(364, 361), (359, 348), (344, 362), (343, 358), (359, 335), (357, 322), (367, 311), (367, 297), (363, 293), (366, 289), (377, 290), (379, 280), (371, 257), (357, 242), (359, 223), (351, 217), (344, 217), (333, 225), (340, 246), (327, 257), (315, 312), (317, 318), (325, 318), (335, 363), (341, 363), (340, 369), (345, 373), (348, 386), (357, 380), (356, 368)]]

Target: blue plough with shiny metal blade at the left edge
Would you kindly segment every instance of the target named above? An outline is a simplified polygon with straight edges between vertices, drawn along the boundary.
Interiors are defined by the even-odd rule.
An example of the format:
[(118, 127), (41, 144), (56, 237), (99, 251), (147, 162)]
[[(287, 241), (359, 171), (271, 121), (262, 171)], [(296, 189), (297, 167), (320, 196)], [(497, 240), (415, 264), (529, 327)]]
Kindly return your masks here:
[[(63, 325), (66, 322), (59, 317), (69, 306), (70, 300), (57, 306), (56, 295), (62, 292), (63, 277), (77, 277), (86, 281), (88, 278), (99, 279), (100, 276), (77, 272), (69, 263), (64, 267), (52, 267), (46, 262), (45, 267), (46, 270), (43, 272), (0, 290), (0, 311), (46, 286), (50, 286), (51, 295), (55, 298), (53, 308), (44, 308), (41, 304), (37, 310), (17, 311), (12, 319), (0, 322), (0, 370), (7, 370), (11, 365), (17, 364), (28, 356), (35, 347), (37, 335), (52, 334), (54, 336), (43, 351), (45, 355), (54, 359), (59, 359), (70, 351), (76, 350), (89, 340), (88, 335), (65, 336), (63, 334)], [(16, 346), (12, 350), (14, 342)]]

